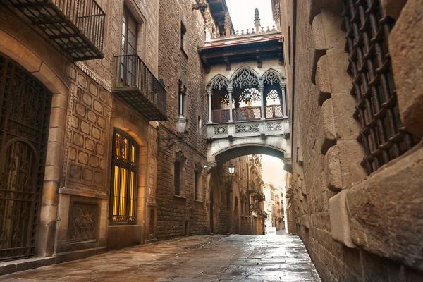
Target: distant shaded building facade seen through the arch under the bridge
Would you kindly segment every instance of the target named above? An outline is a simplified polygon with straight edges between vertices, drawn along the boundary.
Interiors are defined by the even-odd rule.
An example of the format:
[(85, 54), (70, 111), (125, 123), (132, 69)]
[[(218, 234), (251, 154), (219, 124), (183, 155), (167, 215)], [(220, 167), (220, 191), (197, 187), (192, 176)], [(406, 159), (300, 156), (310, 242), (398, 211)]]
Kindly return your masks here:
[[(229, 168), (233, 167), (233, 174)], [(212, 233), (263, 234), (264, 206), (260, 157), (231, 159), (210, 171), (209, 226)]]

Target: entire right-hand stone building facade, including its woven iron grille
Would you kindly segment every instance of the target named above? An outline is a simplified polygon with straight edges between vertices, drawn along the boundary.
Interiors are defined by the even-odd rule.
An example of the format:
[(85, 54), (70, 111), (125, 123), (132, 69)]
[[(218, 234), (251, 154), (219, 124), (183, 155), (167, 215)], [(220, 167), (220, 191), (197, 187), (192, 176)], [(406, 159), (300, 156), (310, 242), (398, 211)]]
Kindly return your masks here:
[(272, 2), (286, 46), (290, 232), (323, 281), (421, 281), (422, 1)]

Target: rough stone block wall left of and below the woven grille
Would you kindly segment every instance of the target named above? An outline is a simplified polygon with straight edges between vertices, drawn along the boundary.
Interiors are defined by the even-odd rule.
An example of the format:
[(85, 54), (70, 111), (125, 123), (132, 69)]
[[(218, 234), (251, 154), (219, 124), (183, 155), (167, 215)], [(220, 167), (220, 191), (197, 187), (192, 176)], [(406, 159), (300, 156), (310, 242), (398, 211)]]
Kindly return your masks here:
[[(422, 171), (421, 149), (365, 177), (340, 1), (295, 2), (293, 183), (287, 193), (296, 232), (322, 281), (420, 281), (421, 240), (415, 236), (420, 237), (421, 220), (414, 216), (419, 207), (412, 199), (420, 199), (421, 181), (412, 174)], [(410, 170), (405, 178), (404, 166)], [(398, 194), (405, 185), (410, 190)], [(393, 203), (390, 209), (387, 202)], [(384, 214), (393, 209), (395, 216), (388, 217), (396, 220), (387, 221)], [(389, 227), (410, 219), (415, 222), (410, 228)]]

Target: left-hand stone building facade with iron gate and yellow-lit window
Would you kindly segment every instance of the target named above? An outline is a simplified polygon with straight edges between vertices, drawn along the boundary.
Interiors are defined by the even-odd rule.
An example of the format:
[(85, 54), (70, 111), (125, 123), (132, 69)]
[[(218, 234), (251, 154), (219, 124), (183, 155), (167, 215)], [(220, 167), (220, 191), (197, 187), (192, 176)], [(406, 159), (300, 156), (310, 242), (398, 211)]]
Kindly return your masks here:
[[(18, 202), (19, 194), (13, 201), (2, 194), (0, 259), (46, 257), (36, 263), (13, 262), (5, 266), (7, 271), (86, 257), (156, 236), (151, 211), (156, 207), (157, 125), (148, 112), (116, 94), (121, 92), (117, 70), (128, 78), (132, 67), (114, 56), (128, 54), (131, 45), (138, 58), (133, 63), (145, 70), (151, 82), (145, 87), (163, 90), (157, 80), (159, 1), (99, 1), (98, 6), (92, 2), (89, 7), (96, 10), (90, 12), (99, 18), (89, 22), (88, 30), (71, 14), (56, 18), (63, 29), (49, 23), (61, 13), (73, 13), (59, 2), (49, 10), (40, 5), (39, 11), (25, 6), (25, 1), (20, 6), (16, 1), (0, 4), (0, 113), (1, 124), (9, 126), (1, 131), (1, 185), (7, 193), (34, 193), (26, 205)], [(54, 15), (44, 15), (47, 10)], [(82, 8), (75, 11), (83, 13)], [(46, 23), (31, 18), (35, 12), (43, 14)], [(80, 46), (61, 34), (75, 28), (80, 33), (71, 38), (81, 40)], [(122, 50), (128, 32), (133, 37), (124, 40), (128, 49)], [(24, 87), (18, 86), (18, 79), (25, 81)], [(9, 93), (25, 95), (21, 101), (27, 102), (18, 103), (19, 98), (13, 100)], [(10, 115), (8, 109), (16, 112)], [(36, 117), (38, 112), (44, 116)], [(40, 136), (38, 143), (35, 135), (22, 129), (42, 123), (46, 126), (39, 131), (45, 137)], [(121, 145), (116, 145), (118, 138)], [(33, 151), (23, 151), (28, 148)], [(39, 161), (37, 177), (32, 175), (35, 168), (26, 166), (28, 158)], [(18, 164), (21, 171), (13, 174)], [(11, 184), (3, 178), (7, 175), (17, 180), (25, 176), (23, 183), (32, 184)], [(8, 221), (11, 214), (22, 216)], [(24, 230), (18, 228), (20, 224)]]

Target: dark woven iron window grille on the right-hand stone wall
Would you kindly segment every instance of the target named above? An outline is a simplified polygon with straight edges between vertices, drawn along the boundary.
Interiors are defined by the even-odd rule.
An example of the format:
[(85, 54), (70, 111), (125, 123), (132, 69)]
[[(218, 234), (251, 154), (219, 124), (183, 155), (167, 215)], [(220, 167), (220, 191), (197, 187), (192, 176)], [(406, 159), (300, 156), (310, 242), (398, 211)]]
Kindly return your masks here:
[(398, 113), (396, 89), (388, 53), (394, 21), (379, 0), (344, 0), (348, 71), (353, 75), (351, 94), (357, 99), (355, 118), (362, 128), (362, 165), (367, 173), (400, 156), (413, 145)]

